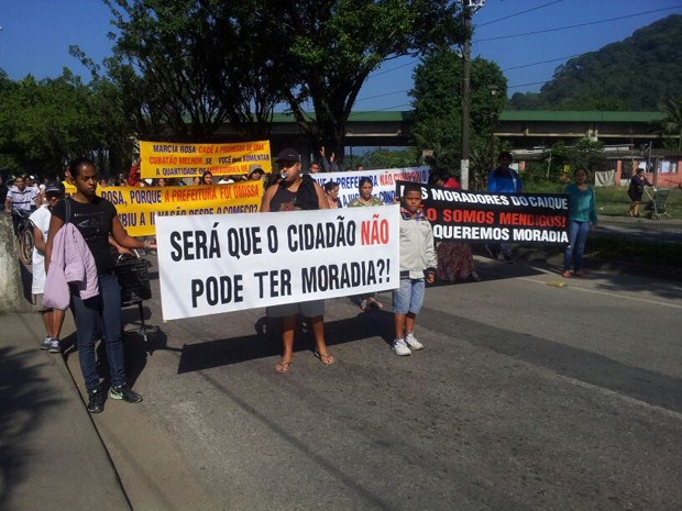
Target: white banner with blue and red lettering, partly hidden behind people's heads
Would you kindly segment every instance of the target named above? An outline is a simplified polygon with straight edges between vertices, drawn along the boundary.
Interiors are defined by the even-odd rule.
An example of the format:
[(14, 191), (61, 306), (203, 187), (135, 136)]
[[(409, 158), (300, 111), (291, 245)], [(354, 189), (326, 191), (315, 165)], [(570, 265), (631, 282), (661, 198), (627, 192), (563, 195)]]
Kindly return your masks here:
[(319, 186), (323, 187), (327, 181), (339, 184), (339, 200), (345, 208), (349, 202), (360, 196), (358, 186), (360, 179), (372, 179), (372, 195), (376, 196), (384, 204), (393, 204), (395, 199), (395, 184), (398, 180), (427, 182), (429, 180), (429, 167), (382, 168), (376, 170), (350, 170), (346, 173), (317, 173), (311, 174)]

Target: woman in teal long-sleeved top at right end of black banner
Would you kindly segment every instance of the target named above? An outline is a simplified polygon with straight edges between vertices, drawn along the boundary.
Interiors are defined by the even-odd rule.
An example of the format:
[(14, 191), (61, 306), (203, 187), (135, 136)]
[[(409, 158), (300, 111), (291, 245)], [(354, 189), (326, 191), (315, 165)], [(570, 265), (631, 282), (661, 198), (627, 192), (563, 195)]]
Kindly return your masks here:
[[(579, 167), (573, 173), (574, 182), (563, 192), (569, 196), (569, 246), (563, 253), (563, 278), (584, 277), (583, 253), (590, 231), (597, 225), (594, 190), (587, 186), (587, 170)], [(569, 271), (573, 259), (573, 274)]]

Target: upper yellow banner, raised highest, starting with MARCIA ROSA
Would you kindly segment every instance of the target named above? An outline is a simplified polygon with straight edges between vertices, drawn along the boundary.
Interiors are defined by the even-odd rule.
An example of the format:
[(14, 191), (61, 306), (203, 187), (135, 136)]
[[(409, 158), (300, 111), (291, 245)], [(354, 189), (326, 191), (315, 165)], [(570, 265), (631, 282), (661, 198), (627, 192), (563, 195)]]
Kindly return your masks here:
[(254, 168), (272, 170), (270, 141), (237, 144), (179, 144), (140, 142), (142, 178), (201, 176), (209, 170), (217, 176), (248, 174)]

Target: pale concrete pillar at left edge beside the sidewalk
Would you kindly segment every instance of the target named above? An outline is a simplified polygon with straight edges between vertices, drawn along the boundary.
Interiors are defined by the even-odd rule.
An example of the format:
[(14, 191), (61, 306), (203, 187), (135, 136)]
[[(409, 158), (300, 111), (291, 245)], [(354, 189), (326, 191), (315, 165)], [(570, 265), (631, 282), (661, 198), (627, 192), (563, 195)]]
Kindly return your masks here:
[(0, 214), (0, 314), (26, 312), (31, 304), (23, 293), (21, 281), (22, 264), (14, 242), (12, 219)]

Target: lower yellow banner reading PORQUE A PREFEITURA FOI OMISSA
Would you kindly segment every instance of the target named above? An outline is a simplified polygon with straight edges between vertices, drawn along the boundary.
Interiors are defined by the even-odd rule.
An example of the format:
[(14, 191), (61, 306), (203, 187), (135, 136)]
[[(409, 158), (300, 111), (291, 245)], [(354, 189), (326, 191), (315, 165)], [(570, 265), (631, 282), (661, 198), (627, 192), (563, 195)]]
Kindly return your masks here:
[[(70, 188), (76, 191), (75, 187)], [(128, 234), (153, 236), (156, 219), (161, 216), (256, 213), (261, 209), (263, 181), (193, 187), (97, 187), (97, 195), (116, 207)]]

